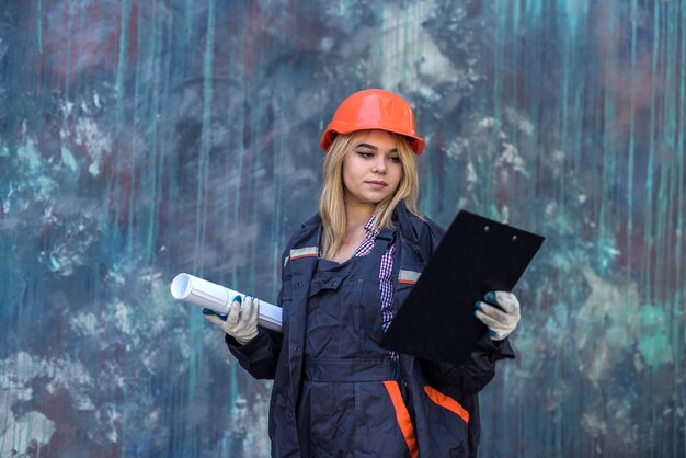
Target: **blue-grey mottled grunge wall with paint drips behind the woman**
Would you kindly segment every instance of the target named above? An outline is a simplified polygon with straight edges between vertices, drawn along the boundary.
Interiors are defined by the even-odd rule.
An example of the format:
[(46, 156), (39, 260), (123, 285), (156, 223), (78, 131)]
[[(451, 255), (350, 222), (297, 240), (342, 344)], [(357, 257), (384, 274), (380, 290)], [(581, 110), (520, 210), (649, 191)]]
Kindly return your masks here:
[(0, 2), (0, 457), (262, 457), (179, 272), (274, 300), (344, 95), (421, 206), (547, 236), (482, 457), (684, 457), (686, 0)]

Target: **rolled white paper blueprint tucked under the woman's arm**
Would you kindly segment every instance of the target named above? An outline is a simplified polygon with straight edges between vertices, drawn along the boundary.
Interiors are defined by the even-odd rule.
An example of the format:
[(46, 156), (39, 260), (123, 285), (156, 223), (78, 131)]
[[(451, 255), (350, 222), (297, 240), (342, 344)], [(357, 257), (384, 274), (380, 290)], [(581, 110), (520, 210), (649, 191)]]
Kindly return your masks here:
[[(174, 299), (206, 307), (219, 314), (229, 314), (236, 296), (240, 296), (241, 300), (245, 297), (242, 293), (188, 274), (179, 274), (174, 277), (171, 293)], [(281, 332), (281, 307), (260, 300), (258, 324)]]

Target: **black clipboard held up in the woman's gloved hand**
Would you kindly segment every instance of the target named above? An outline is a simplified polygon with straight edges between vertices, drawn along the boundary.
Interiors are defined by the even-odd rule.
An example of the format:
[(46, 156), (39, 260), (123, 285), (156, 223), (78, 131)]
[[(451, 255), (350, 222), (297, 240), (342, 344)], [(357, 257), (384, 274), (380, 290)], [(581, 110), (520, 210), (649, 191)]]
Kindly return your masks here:
[(381, 346), (460, 364), (487, 328), (475, 302), (512, 291), (545, 238), (460, 210), (381, 339)]

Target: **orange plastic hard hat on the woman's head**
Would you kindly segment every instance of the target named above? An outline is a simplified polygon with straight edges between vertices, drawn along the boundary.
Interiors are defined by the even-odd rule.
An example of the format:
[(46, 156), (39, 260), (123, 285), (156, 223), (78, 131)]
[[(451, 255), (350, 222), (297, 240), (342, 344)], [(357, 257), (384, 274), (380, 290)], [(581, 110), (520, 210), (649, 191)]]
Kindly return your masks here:
[(333, 114), (319, 146), (324, 152), (329, 152), (338, 134), (371, 129), (388, 130), (407, 137), (412, 151), (418, 154), (424, 150), (424, 140), (416, 135), (410, 104), (401, 96), (381, 89), (365, 89), (345, 99)]

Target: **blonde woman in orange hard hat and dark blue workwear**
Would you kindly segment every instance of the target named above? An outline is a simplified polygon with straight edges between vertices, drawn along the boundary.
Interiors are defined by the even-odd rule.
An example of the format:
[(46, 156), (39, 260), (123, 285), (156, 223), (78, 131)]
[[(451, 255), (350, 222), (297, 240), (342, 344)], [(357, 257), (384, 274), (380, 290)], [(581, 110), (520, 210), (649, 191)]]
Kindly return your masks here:
[[(226, 343), (255, 378), (274, 379), (270, 437), (275, 457), (467, 457), (479, 440), (477, 392), (519, 319), (510, 293), (487, 295), (489, 327), (460, 366), (379, 345), (443, 230), (416, 208), (415, 157), (424, 149), (410, 105), (369, 89), (336, 110), (319, 214), (283, 255), (283, 334), (258, 328), (259, 301), (232, 304)], [(240, 299), (240, 298), (238, 298)]]

